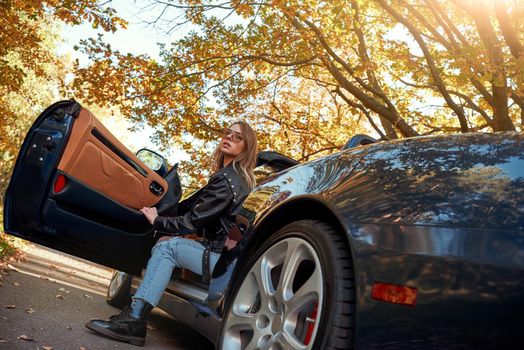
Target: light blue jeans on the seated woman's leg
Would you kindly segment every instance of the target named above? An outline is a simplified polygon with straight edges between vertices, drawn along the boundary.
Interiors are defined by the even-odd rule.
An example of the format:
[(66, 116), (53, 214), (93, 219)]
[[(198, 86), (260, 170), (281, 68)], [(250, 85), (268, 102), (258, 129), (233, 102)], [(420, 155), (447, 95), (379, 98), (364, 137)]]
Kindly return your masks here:
[[(160, 297), (171, 279), (175, 267), (188, 269), (198, 275), (202, 274), (202, 255), (204, 246), (195, 240), (173, 237), (155, 244), (146, 272), (134, 298), (140, 298), (153, 306), (158, 305)], [(213, 271), (219, 253), (209, 254), (209, 269)]]

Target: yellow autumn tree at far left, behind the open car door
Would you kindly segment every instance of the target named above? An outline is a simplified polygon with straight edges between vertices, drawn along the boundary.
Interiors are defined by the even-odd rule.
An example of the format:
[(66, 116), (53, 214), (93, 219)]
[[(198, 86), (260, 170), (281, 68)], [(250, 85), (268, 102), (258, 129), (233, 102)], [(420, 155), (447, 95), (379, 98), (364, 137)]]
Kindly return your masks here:
[(0, 2), (0, 199), (21, 142), (33, 120), (64, 98), (64, 58), (57, 57), (59, 25), (90, 22), (125, 26), (98, 0), (5, 0)]

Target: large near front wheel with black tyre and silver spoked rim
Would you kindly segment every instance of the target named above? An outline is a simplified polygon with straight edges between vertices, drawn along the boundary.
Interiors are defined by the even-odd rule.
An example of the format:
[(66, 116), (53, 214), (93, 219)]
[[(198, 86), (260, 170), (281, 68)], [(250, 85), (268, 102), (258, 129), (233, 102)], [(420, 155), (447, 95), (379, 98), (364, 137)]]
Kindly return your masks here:
[(224, 317), (221, 349), (353, 347), (353, 265), (347, 241), (333, 227), (291, 223), (246, 266)]

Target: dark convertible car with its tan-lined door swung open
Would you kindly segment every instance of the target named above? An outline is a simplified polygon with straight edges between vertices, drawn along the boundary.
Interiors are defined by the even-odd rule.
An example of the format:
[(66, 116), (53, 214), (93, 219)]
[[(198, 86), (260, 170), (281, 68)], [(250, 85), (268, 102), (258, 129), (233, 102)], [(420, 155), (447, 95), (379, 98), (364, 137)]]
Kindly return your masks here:
[[(176, 270), (159, 306), (226, 350), (522, 349), (524, 135), (346, 146), (305, 164), (262, 153), (273, 173), (244, 202), (242, 240), (208, 283)], [(122, 304), (155, 241), (138, 209), (169, 215), (180, 197), (176, 168), (140, 158), (78, 103), (50, 106), (5, 231), (115, 268)]]

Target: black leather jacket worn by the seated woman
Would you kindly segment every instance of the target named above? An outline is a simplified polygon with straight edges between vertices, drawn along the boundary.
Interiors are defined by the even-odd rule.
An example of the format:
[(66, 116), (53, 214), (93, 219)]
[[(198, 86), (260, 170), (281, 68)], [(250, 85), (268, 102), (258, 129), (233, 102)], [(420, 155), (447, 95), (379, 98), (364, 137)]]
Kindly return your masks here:
[(170, 235), (196, 233), (211, 251), (221, 252), (236, 212), (249, 194), (244, 177), (230, 164), (213, 174), (204, 187), (180, 202), (178, 216), (157, 216), (155, 230)]

